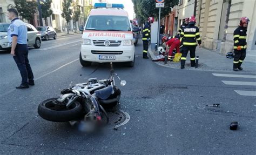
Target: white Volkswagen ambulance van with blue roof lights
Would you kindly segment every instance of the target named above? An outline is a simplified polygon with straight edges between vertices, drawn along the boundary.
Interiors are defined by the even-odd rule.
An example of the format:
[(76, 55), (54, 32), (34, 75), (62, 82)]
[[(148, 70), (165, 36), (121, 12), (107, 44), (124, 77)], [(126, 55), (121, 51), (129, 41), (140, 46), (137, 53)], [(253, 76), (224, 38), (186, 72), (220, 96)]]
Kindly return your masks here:
[(95, 3), (84, 26), (80, 63), (125, 62), (134, 65), (132, 25), (123, 4)]

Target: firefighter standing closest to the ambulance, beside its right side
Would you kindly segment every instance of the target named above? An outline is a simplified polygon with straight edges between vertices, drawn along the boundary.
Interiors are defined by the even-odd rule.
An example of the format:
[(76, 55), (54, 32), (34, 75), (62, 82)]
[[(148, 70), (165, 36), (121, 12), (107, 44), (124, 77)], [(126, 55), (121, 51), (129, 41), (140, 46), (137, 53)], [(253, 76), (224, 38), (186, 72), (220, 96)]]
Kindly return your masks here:
[(149, 49), (150, 41), (150, 24), (154, 22), (154, 17), (147, 18), (147, 22), (142, 31), (142, 41), (143, 41), (143, 58), (148, 59), (147, 50)]

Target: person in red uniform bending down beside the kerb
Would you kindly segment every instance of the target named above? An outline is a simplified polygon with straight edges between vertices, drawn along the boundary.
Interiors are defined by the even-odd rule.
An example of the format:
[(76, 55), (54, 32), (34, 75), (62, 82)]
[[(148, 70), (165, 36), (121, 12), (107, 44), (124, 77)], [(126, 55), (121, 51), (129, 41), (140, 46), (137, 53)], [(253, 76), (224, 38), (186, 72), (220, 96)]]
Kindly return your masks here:
[(179, 36), (175, 36), (174, 38), (171, 38), (168, 42), (166, 42), (166, 46), (169, 46), (169, 53), (168, 53), (168, 60), (171, 61), (172, 57), (174, 57), (174, 53), (172, 52), (174, 49), (176, 49), (177, 53), (180, 53), (179, 46), (180, 46), (180, 39)]

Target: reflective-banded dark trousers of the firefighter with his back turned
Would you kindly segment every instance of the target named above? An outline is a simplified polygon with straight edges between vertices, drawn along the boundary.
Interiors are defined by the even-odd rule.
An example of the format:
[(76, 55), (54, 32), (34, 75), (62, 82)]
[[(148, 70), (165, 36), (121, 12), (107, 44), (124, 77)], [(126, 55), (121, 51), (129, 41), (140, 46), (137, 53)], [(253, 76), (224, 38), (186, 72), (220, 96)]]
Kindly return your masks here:
[(196, 48), (197, 48), (196, 46), (183, 45), (182, 50), (181, 50), (181, 53), (182, 53), (181, 61), (180, 61), (181, 66), (185, 65), (188, 51), (190, 51), (190, 64), (191, 64), (191, 66), (193, 67), (193, 66), (196, 65)]

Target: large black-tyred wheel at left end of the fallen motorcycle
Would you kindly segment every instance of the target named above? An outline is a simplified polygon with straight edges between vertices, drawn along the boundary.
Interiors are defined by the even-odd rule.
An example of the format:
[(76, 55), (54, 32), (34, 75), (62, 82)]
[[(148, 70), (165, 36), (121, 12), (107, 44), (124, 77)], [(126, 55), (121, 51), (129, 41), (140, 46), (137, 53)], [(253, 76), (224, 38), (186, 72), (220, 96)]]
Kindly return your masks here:
[(40, 103), (37, 108), (39, 116), (51, 122), (68, 122), (83, 116), (83, 107), (79, 102), (73, 103), (68, 108), (65, 104), (55, 104), (56, 99), (50, 98)]

